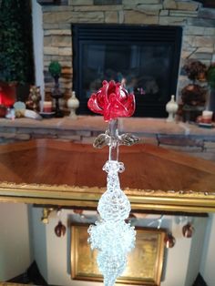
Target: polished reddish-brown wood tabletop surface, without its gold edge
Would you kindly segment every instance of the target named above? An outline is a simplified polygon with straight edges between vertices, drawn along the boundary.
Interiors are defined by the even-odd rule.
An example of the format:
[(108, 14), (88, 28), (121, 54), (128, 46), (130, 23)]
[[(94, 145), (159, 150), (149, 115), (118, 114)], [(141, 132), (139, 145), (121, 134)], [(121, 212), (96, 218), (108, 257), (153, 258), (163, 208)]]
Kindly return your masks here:
[[(105, 187), (108, 148), (52, 139), (0, 147), (0, 181)], [(120, 147), (122, 188), (215, 191), (215, 164), (148, 144)]]

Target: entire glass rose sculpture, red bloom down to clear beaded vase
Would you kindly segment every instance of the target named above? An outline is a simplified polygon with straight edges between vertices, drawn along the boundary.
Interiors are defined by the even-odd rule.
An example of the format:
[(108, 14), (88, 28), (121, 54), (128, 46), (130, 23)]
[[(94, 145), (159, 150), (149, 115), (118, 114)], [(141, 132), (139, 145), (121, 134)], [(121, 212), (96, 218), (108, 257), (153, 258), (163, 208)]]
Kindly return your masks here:
[(107, 131), (98, 135), (95, 148), (109, 147), (103, 170), (107, 172), (107, 190), (98, 201), (100, 219), (88, 228), (91, 249), (97, 249), (97, 265), (104, 276), (104, 285), (113, 286), (127, 265), (127, 255), (134, 248), (136, 231), (125, 220), (130, 212), (130, 202), (120, 188), (118, 173), (124, 164), (118, 162), (118, 146), (133, 145), (138, 138), (131, 134), (118, 134), (118, 117), (130, 117), (135, 110), (135, 97), (119, 83), (104, 81), (97, 93), (92, 94), (87, 106), (102, 114), (108, 122)]

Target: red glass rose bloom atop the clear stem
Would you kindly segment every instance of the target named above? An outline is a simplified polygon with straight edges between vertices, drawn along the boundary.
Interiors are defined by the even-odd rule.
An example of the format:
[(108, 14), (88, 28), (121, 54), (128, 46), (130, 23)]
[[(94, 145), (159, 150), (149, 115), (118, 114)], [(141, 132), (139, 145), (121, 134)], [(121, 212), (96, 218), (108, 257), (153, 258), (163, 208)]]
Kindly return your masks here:
[(103, 81), (97, 93), (88, 99), (87, 107), (104, 116), (105, 121), (118, 117), (131, 117), (135, 111), (135, 97), (114, 80)]

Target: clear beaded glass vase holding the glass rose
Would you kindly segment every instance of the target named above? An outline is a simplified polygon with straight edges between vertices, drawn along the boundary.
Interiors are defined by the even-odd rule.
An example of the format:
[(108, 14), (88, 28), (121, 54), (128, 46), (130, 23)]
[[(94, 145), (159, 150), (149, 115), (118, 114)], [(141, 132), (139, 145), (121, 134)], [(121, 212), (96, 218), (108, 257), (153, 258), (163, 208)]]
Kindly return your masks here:
[(130, 203), (120, 189), (118, 172), (124, 170), (123, 163), (108, 160), (107, 190), (98, 202), (100, 220), (90, 225), (88, 242), (97, 249), (97, 265), (104, 276), (104, 284), (113, 286), (118, 276), (125, 271), (128, 251), (134, 248), (136, 231), (125, 220), (128, 219)]

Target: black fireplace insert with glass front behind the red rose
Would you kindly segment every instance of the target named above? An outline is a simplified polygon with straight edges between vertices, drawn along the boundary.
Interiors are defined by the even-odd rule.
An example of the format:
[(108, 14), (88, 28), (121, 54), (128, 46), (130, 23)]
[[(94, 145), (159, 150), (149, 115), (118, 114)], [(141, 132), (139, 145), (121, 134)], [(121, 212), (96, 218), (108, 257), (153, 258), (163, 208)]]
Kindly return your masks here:
[(72, 25), (73, 84), (79, 114), (102, 81), (121, 82), (136, 97), (136, 117), (166, 117), (176, 93), (182, 29), (179, 26)]

